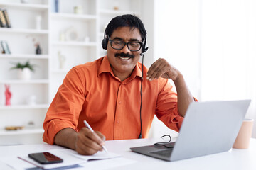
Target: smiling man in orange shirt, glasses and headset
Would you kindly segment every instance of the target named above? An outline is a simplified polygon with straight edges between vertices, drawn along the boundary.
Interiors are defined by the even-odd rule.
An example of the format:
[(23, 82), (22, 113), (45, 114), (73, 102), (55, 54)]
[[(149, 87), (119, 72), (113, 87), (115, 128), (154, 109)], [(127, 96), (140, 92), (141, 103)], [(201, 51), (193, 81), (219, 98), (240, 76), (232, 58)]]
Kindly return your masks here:
[[(102, 47), (107, 56), (73, 67), (66, 75), (46, 114), (43, 140), (95, 154), (105, 139), (146, 137), (154, 115), (178, 131), (194, 99), (181, 72), (166, 60), (157, 60), (148, 70), (139, 63), (147, 50), (142, 21), (132, 15), (113, 18)], [(85, 128), (83, 120), (95, 132)]]

